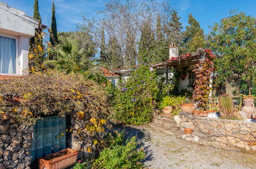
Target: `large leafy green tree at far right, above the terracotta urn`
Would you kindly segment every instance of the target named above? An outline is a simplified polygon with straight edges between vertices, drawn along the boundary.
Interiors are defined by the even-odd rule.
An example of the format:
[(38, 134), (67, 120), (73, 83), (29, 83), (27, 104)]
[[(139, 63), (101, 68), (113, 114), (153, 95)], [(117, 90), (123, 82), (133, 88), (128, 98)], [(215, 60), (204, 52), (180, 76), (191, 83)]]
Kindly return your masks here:
[(209, 36), (214, 59), (215, 84), (223, 85), (237, 74), (245, 94), (256, 94), (256, 18), (232, 11), (229, 17), (213, 25)]

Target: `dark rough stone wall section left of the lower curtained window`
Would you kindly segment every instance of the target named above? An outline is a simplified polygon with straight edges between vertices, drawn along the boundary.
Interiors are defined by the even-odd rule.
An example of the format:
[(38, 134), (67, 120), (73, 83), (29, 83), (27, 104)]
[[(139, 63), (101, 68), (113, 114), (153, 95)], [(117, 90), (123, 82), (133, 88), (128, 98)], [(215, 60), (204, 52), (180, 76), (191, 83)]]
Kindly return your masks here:
[(28, 169), (31, 163), (33, 126), (0, 119), (0, 169)]

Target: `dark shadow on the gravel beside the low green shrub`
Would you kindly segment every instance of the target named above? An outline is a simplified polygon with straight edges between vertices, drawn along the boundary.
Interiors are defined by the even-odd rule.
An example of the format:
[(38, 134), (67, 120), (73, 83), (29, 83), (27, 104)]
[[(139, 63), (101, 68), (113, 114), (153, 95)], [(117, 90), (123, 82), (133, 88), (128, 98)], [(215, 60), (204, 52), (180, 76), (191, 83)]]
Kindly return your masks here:
[(137, 149), (143, 149), (144, 150), (144, 153), (146, 154), (146, 158), (143, 162), (146, 162), (146, 161), (150, 161), (152, 160), (152, 151), (149, 150), (149, 146), (145, 146), (144, 143), (143, 143), (143, 140), (151, 140), (151, 134), (149, 132), (147, 132), (145, 129), (140, 129), (139, 127), (137, 126), (127, 126), (125, 124), (117, 124), (117, 125), (114, 125), (114, 130), (117, 130), (117, 131), (124, 131), (125, 132), (125, 141), (128, 139), (128, 138), (131, 138), (133, 136), (136, 136), (137, 138)]

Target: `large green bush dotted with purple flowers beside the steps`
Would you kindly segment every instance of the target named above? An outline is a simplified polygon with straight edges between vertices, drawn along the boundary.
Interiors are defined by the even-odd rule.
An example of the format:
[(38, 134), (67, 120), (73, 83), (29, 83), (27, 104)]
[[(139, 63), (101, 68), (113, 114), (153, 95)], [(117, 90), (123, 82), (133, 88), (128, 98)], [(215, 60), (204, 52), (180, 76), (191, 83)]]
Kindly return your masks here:
[(140, 66), (130, 78), (120, 84), (115, 96), (114, 118), (127, 124), (145, 124), (152, 120), (153, 100), (157, 96), (157, 82), (154, 71)]

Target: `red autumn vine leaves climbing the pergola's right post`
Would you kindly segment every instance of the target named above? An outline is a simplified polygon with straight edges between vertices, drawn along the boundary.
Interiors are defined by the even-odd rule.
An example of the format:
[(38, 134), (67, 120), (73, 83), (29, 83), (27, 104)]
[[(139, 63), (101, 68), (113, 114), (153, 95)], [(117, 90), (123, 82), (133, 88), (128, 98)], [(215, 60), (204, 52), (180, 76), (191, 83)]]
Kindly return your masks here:
[(210, 88), (210, 76), (213, 71), (212, 60), (215, 55), (210, 49), (205, 49), (205, 59), (195, 65), (193, 72), (195, 73), (193, 98), (198, 102), (197, 106), (200, 110), (208, 109)]

